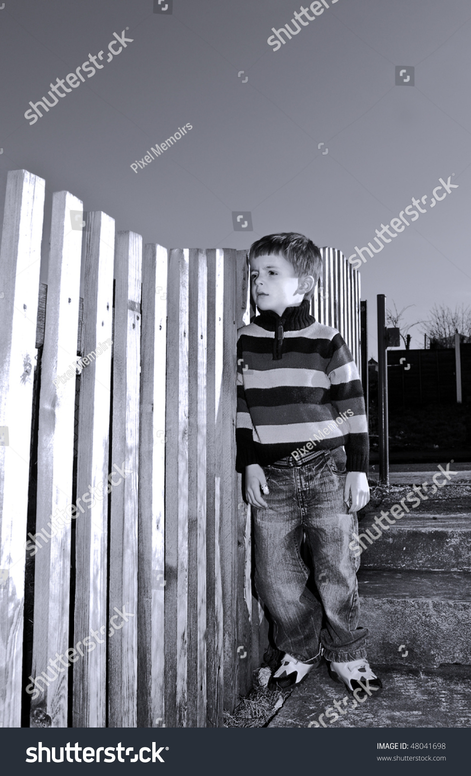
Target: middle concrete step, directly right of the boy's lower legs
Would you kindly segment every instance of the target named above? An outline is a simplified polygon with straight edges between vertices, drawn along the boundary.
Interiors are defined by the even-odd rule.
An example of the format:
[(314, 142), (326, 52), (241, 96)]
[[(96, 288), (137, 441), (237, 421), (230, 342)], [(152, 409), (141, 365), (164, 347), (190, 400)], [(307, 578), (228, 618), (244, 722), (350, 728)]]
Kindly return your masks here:
[(358, 592), (370, 662), (471, 664), (471, 573), (360, 570)]

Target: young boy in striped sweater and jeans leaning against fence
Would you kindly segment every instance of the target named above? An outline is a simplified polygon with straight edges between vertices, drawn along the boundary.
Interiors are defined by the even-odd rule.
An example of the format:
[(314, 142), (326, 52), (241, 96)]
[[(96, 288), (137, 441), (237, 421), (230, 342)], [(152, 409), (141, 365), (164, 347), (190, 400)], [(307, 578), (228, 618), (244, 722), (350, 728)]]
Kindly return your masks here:
[[(358, 627), (359, 559), (348, 546), (369, 501), (358, 370), (337, 329), (309, 313), (322, 267), (312, 241), (268, 234), (249, 262), (259, 314), (237, 331), (236, 469), (255, 508), (255, 587), (285, 653), (268, 687), (298, 684), (324, 656), (351, 694), (362, 681), (378, 690), (368, 630)], [(317, 596), (306, 587), (303, 532)]]

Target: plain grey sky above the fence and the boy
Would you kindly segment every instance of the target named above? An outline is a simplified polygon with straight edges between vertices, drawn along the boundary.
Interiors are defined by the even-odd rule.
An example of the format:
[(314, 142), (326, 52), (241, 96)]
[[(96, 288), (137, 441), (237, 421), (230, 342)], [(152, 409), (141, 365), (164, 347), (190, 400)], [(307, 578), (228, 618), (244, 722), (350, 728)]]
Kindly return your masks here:
[[(298, 0), (1, 5), (0, 212), (7, 172), (25, 168), (46, 180), (45, 236), (52, 194), (67, 189), (144, 243), (243, 249), (296, 231), (346, 258), (377, 248), (376, 230), (402, 212), (408, 225), (383, 231), (390, 242), (359, 270), (369, 356), (377, 294), (410, 306), (409, 323), (435, 303), (471, 303), (468, 0), (326, 0), (322, 13), (313, 3), (317, 16)], [(302, 8), (297, 34), (268, 43), (272, 28), (296, 32)], [(57, 105), (25, 118), (100, 51), (91, 77), (88, 64), (85, 81), (66, 81)], [(414, 223), (413, 197), (425, 211)], [(245, 231), (234, 231), (236, 212), (251, 214)], [(47, 251), (43, 240), (42, 282)], [(422, 348), (421, 324), (410, 333)]]

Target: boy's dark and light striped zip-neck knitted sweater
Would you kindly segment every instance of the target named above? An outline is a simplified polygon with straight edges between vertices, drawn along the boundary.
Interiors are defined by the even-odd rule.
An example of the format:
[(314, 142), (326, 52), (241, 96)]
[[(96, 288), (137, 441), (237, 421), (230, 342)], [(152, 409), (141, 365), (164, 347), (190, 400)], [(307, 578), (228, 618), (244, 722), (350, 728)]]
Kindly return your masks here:
[(369, 439), (358, 369), (337, 329), (308, 300), (282, 316), (263, 310), (237, 330), (237, 472), (345, 446), (347, 470), (368, 473)]

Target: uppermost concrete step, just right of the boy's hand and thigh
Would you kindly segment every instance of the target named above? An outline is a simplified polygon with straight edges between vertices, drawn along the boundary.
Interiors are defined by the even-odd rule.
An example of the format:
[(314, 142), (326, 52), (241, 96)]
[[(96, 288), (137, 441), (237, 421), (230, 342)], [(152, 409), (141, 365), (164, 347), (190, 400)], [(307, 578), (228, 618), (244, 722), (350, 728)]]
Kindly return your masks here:
[[(374, 518), (366, 517), (358, 525), (365, 545), (360, 561), (363, 569), (471, 571), (470, 514), (435, 515), (417, 510), (376, 539), (379, 527)], [(367, 528), (372, 536), (366, 533)]]

